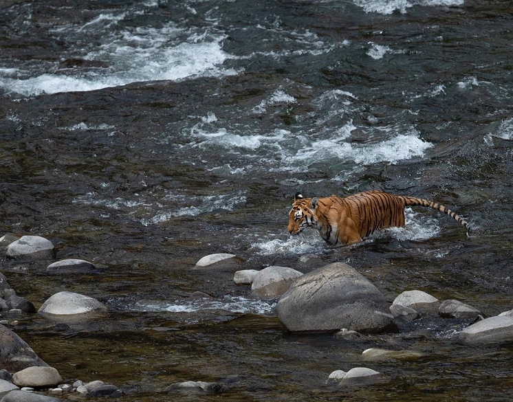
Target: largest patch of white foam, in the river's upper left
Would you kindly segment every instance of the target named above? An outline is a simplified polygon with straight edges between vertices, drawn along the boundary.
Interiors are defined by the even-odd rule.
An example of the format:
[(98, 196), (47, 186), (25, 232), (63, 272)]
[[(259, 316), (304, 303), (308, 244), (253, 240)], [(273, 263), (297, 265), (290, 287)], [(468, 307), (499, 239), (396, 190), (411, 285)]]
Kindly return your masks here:
[[(83, 25), (63, 25), (50, 31), (71, 43), (68, 58), (89, 60), (96, 67), (65, 68), (56, 62), (25, 65), (23, 69), (3, 68), (0, 88), (22, 96), (37, 96), (94, 91), (132, 82), (238, 74), (223, 67), (231, 57), (222, 48), (226, 38), (223, 32), (208, 28), (191, 32), (172, 22), (160, 27), (124, 26), (124, 20), (131, 21), (138, 12), (141, 11), (100, 14)], [(88, 38), (90, 43), (84, 45)]]

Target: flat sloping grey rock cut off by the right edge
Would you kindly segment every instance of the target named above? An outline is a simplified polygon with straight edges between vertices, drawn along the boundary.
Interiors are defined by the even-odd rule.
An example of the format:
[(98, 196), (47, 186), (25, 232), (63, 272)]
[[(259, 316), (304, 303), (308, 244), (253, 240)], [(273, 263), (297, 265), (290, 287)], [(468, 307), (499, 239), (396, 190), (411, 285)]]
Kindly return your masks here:
[(470, 344), (512, 341), (513, 315), (485, 318), (463, 329), (458, 339)]

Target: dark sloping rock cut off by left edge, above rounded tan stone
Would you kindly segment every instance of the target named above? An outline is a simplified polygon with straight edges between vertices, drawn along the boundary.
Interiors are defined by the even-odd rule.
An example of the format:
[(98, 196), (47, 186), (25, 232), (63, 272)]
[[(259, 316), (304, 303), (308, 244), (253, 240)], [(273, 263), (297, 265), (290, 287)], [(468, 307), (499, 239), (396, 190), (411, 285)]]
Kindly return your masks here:
[(0, 345), (0, 367), (10, 372), (31, 366), (48, 366), (21, 337), (3, 325), (0, 325)]

